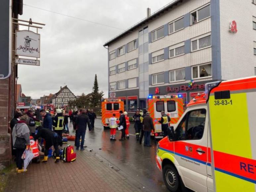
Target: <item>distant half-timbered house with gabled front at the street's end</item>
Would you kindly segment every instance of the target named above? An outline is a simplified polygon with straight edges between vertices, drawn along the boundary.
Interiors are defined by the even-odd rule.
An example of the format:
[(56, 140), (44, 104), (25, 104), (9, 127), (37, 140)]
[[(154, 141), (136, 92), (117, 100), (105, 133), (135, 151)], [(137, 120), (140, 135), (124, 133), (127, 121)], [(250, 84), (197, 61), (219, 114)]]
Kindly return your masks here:
[(77, 97), (71, 92), (71, 90), (67, 87), (61, 87), (59, 92), (57, 92), (54, 97), (51, 98), (51, 103), (55, 106), (55, 108), (63, 108), (69, 104), (69, 101), (75, 100)]

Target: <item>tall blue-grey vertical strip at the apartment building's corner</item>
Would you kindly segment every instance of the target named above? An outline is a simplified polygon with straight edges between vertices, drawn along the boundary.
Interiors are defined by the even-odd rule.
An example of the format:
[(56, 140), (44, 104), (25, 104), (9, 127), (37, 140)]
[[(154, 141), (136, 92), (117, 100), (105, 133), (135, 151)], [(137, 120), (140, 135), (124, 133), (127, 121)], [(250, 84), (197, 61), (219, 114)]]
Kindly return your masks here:
[(220, 0), (211, 0), (212, 77), (221, 80)]

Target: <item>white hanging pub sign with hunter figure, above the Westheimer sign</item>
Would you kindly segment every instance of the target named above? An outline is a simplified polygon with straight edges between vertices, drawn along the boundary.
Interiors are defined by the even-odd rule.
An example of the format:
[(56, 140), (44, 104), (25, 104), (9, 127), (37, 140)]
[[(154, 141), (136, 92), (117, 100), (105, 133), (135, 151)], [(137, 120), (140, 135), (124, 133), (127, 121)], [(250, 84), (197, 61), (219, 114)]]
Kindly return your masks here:
[(16, 31), (16, 55), (40, 57), (40, 34), (33, 31)]

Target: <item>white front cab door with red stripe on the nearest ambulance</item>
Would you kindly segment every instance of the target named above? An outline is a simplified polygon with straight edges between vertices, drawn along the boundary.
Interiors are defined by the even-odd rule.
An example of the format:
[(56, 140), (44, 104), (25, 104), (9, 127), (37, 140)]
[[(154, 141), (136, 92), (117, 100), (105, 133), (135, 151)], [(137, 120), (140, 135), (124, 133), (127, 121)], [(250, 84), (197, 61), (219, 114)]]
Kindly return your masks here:
[(186, 187), (207, 192), (207, 140), (208, 118), (206, 106), (187, 110), (175, 133), (175, 158), (179, 163), (182, 180)]

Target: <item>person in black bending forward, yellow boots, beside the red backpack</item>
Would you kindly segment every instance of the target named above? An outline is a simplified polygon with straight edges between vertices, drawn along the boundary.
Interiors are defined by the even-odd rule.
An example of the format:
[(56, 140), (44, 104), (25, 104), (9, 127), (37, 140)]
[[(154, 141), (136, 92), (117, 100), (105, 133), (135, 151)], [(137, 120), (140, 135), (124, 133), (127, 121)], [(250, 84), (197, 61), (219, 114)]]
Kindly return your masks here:
[(44, 159), (42, 162), (47, 163), (48, 150), (51, 146), (53, 146), (56, 151), (55, 163), (59, 163), (59, 143), (61, 142), (59, 135), (48, 128), (43, 128), (42, 126), (38, 126), (36, 130), (37, 133), (34, 135), (34, 140), (37, 140), (39, 137), (42, 137), (45, 140)]

